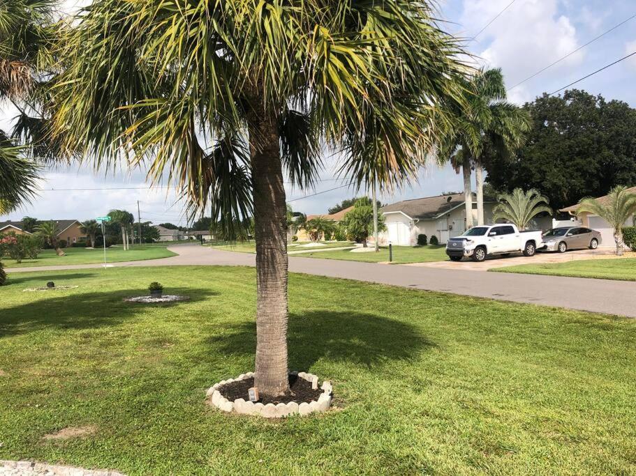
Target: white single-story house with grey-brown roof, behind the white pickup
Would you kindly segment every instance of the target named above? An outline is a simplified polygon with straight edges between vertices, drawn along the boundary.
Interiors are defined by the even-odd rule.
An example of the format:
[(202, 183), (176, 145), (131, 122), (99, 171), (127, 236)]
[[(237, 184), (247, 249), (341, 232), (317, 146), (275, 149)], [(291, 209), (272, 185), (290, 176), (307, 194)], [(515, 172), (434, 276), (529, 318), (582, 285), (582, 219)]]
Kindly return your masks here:
[[(484, 200), (484, 219), (492, 221), (492, 210), (496, 201)], [(437, 236), (439, 243), (459, 236), (466, 231), (464, 193), (436, 195), (421, 199), (403, 200), (380, 208), (387, 231), (381, 233), (380, 241), (393, 245), (413, 246), (417, 235), (424, 234), (428, 240)], [(477, 223), (477, 203), (473, 194), (473, 223)]]

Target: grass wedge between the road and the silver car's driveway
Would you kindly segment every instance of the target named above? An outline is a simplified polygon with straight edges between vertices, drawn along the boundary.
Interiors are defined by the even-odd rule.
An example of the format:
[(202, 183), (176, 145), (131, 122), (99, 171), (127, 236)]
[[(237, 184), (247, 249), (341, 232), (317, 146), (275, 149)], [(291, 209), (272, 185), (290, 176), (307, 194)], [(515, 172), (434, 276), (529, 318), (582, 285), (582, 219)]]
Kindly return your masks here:
[(636, 258), (582, 259), (565, 263), (524, 264), (495, 268), (491, 271), (636, 281)]

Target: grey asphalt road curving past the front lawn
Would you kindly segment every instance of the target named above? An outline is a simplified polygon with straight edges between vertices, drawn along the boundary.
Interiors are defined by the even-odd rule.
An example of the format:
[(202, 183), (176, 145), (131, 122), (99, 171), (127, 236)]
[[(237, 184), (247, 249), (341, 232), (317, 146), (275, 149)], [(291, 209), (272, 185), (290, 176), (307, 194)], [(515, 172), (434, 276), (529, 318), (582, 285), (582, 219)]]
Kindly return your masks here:
[[(256, 256), (198, 245), (175, 245), (179, 256), (151, 261), (113, 263), (128, 266), (255, 266)], [(8, 273), (101, 268), (102, 265), (43, 266), (9, 268)], [(442, 291), (480, 298), (527, 302), (636, 317), (636, 282), (542, 275), (426, 268), (357, 261), (289, 257), (290, 272), (357, 279), (427, 291)]]

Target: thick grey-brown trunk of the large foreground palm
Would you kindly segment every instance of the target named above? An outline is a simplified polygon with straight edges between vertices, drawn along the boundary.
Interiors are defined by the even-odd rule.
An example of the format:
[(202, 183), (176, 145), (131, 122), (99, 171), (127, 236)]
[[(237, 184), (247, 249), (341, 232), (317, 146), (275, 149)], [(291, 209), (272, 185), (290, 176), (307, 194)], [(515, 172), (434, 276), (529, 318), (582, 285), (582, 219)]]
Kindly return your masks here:
[[(262, 104), (262, 100), (253, 104)], [(260, 394), (275, 397), (289, 390), (287, 208), (276, 118), (262, 112), (251, 114), (249, 137), (256, 237), (254, 385)]]

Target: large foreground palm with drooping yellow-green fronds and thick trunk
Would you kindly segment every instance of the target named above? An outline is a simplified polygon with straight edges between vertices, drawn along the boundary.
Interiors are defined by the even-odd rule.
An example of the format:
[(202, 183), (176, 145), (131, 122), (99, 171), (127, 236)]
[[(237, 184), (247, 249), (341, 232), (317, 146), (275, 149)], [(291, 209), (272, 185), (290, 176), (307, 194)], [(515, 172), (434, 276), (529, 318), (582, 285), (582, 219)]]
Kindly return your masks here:
[[(441, 104), (461, 100), (457, 42), (426, 0), (94, 0), (61, 43), (65, 151), (98, 167), (146, 162), (155, 182), (165, 171), (193, 206), (212, 202), (225, 238), (254, 217), (255, 385), (284, 394), (285, 173), (311, 187), (320, 144), (348, 151), (369, 123), (382, 132), (379, 185), (417, 171), (447, 122)], [(367, 159), (347, 161), (359, 182)]]

